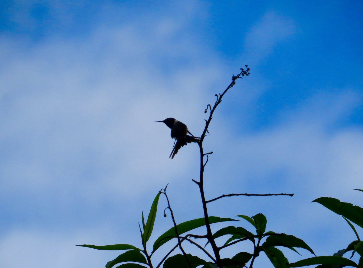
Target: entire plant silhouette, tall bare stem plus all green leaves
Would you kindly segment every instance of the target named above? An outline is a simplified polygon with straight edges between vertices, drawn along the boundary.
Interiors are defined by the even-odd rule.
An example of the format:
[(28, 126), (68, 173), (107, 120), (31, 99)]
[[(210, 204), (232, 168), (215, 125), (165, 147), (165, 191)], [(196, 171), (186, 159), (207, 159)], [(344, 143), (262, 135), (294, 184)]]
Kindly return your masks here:
[[(278, 248), (283, 247), (294, 252), (297, 252), (296, 248), (302, 248), (309, 251), (311, 254), (314, 254), (314, 251), (301, 239), (293, 236), (287, 235), (284, 233), (275, 233), (273, 231), (266, 231), (267, 219), (265, 215), (259, 213), (252, 217), (247, 215), (237, 215), (235, 219), (233, 218), (220, 218), (216, 216), (208, 215), (207, 204), (209, 202), (216, 201), (220, 198), (229, 197), (229, 196), (272, 196), (272, 195), (284, 195), (284, 196), (293, 196), (293, 194), (242, 194), (242, 193), (232, 193), (232, 194), (224, 194), (222, 196), (213, 198), (211, 200), (205, 200), (204, 197), (204, 167), (208, 162), (209, 155), (213, 152), (204, 153), (203, 151), (203, 141), (208, 132), (209, 123), (212, 120), (212, 115), (215, 112), (217, 106), (221, 103), (223, 96), (227, 93), (228, 89), (233, 87), (236, 84), (236, 80), (238, 78), (242, 78), (242, 76), (249, 75), (249, 68), (246, 65), (246, 70), (241, 68), (241, 72), (237, 75), (232, 75), (232, 82), (225, 89), (225, 91), (221, 94), (216, 94), (215, 104), (207, 105), (205, 109), (205, 113), (209, 112), (208, 119), (205, 119), (205, 127), (203, 133), (200, 135), (200, 141), (197, 142), (200, 149), (200, 179), (199, 181), (193, 180), (194, 183), (199, 187), (200, 196), (201, 196), (201, 205), (203, 207), (204, 217), (191, 219), (182, 223), (177, 224), (174, 218), (174, 212), (171, 208), (166, 190), (167, 186), (164, 189), (161, 189), (154, 198), (152, 202), (150, 212), (147, 217), (147, 221), (145, 222), (144, 212), (141, 215), (141, 225), (139, 224), (139, 230), (141, 235), (141, 244), (142, 247), (138, 248), (136, 246), (130, 244), (115, 244), (115, 245), (107, 245), (107, 246), (93, 246), (93, 245), (78, 245), (82, 247), (94, 248), (97, 250), (121, 250), (122, 254), (117, 256), (114, 260), (109, 261), (106, 264), (106, 268), (140, 268), (140, 267), (150, 267), (150, 268), (241, 268), (241, 267), (249, 267), (252, 268), (255, 259), (260, 255), (260, 253), (264, 253), (272, 265), (276, 268), (288, 268), (288, 267), (302, 267), (307, 265), (319, 265), (319, 268), (338, 268), (345, 266), (352, 267), (362, 267), (363, 268), (363, 242), (360, 241), (357, 231), (351, 222), (356, 225), (363, 227), (363, 209), (358, 206), (353, 206), (349, 203), (340, 202), (337, 199), (330, 197), (321, 197), (314, 202), (318, 202), (322, 204), (326, 208), (332, 210), (333, 212), (343, 215), (343, 218), (348, 222), (349, 226), (352, 228), (354, 233), (356, 234), (357, 240), (353, 241), (343, 250), (338, 251), (333, 256), (315, 256), (309, 259), (304, 259), (297, 261), (295, 263), (289, 263), (284, 253)], [(154, 231), (154, 224), (156, 213), (158, 210), (159, 198), (160, 195), (166, 198), (167, 208), (164, 210), (164, 217), (166, 217), (165, 211), (168, 209), (171, 214), (172, 226), (169, 230), (165, 231), (162, 235), (160, 235), (155, 241), (150, 242), (150, 237), (152, 232)], [(234, 225), (224, 226), (216, 232), (212, 233), (211, 225), (213, 223), (227, 223), (233, 222)], [(237, 225), (238, 222), (238, 225)], [(246, 228), (247, 226), (251, 227), (252, 230), (249, 231)], [(204, 235), (197, 235), (191, 232), (196, 229), (204, 227), (206, 233)], [(222, 238), (224, 239), (224, 243), (217, 246), (216, 239), (220, 241)], [(158, 251), (160, 248), (166, 248), (165, 244), (167, 242), (173, 241), (174, 245), (169, 246), (164, 252), (167, 252), (162, 259), (154, 260), (151, 259), (152, 256)], [(200, 243), (203, 241), (206, 244)], [(188, 242), (191, 243), (199, 249), (204, 254), (204, 258), (199, 256), (194, 256), (192, 254), (186, 253), (183, 248), (183, 243)], [(247, 243), (251, 246), (250, 252), (238, 252), (235, 256), (231, 258), (222, 258), (220, 256), (221, 250), (225, 248), (234, 247), (241, 248), (241, 243)], [(152, 245), (152, 246), (151, 246)], [(170, 243), (169, 243), (170, 245)], [(209, 246), (211, 250), (206, 250), (205, 247)], [(174, 251), (179, 248), (181, 254), (175, 254)], [(151, 252), (150, 252), (151, 250)], [(357, 253), (359, 254), (360, 260), (359, 263), (356, 264), (354, 261), (349, 260), (343, 255), (349, 251), (352, 251), (352, 256)], [(174, 255), (173, 255), (174, 254)], [(315, 254), (314, 254), (315, 255)]]

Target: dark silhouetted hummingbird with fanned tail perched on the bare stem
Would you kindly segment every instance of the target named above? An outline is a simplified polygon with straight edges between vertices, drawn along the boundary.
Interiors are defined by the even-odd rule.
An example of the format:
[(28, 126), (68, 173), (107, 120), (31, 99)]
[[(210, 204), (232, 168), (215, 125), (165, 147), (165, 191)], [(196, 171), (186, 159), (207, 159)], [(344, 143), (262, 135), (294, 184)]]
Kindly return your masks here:
[[(176, 120), (175, 118), (169, 117), (163, 121), (155, 120), (154, 122), (163, 122), (171, 129), (171, 138), (175, 139), (173, 150), (171, 151), (171, 154), (169, 156), (169, 158), (171, 159), (174, 158), (174, 156), (178, 153), (179, 149), (182, 146), (187, 145), (187, 143), (200, 141), (200, 137), (194, 137), (194, 135), (190, 133), (187, 125)], [(191, 136), (187, 135), (187, 133)]]

